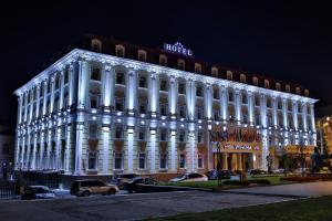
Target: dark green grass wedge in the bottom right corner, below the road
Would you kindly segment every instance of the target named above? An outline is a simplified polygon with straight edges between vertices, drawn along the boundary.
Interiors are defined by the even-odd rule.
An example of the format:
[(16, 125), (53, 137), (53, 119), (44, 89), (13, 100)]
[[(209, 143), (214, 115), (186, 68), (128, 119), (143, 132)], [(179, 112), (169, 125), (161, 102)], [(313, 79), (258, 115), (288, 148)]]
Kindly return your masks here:
[(328, 221), (332, 220), (331, 208), (332, 196), (328, 196), (266, 206), (184, 213), (153, 220)]

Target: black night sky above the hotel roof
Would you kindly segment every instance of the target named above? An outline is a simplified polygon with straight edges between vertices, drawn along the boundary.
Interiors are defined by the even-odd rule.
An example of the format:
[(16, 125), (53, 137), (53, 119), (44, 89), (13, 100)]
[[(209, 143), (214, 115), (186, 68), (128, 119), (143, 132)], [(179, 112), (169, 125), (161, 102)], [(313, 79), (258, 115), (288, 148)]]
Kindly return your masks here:
[(319, 1), (10, 2), (0, 9), (2, 124), (15, 124), (13, 91), (84, 33), (153, 48), (180, 41), (200, 60), (300, 83), (332, 104), (332, 8)]

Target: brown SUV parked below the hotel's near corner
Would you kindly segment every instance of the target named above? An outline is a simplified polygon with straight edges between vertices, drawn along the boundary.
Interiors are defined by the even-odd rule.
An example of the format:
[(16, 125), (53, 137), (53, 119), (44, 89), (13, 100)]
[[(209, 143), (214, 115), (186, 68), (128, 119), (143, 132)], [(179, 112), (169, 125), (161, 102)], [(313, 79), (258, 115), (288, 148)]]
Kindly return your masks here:
[(91, 194), (115, 194), (118, 188), (115, 185), (106, 185), (101, 180), (75, 180), (71, 187), (71, 194), (89, 197)]

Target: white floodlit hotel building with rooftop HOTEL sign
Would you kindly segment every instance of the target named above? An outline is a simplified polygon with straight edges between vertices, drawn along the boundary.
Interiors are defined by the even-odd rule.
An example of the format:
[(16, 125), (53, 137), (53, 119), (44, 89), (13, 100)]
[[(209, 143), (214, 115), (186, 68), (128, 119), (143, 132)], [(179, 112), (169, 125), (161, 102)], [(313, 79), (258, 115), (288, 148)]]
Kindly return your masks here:
[(315, 146), (314, 103), (298, 85), (89, 35), (14, 92), (15, 169), (170, 176), (282, 167)]

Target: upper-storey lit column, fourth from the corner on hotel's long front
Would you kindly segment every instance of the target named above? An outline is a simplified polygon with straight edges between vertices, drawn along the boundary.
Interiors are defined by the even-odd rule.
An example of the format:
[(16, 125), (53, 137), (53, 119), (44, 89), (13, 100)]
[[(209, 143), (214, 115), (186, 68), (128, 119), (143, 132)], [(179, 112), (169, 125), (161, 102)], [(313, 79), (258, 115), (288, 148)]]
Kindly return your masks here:
[(159, 77), (156, 73), (151, 73), (148, 78), (148, 99), (152, 116), (159, 112)]

